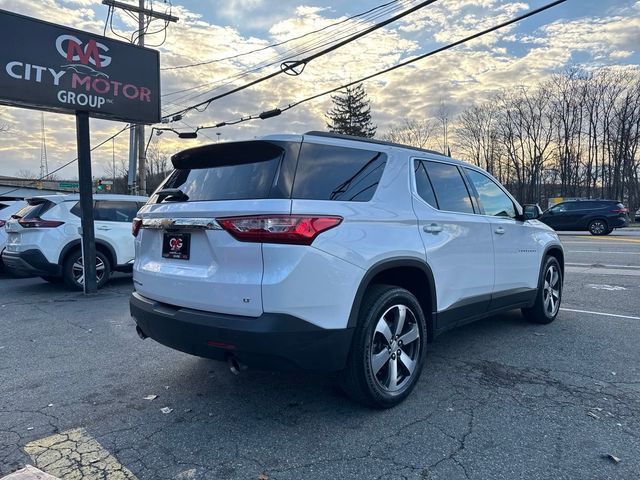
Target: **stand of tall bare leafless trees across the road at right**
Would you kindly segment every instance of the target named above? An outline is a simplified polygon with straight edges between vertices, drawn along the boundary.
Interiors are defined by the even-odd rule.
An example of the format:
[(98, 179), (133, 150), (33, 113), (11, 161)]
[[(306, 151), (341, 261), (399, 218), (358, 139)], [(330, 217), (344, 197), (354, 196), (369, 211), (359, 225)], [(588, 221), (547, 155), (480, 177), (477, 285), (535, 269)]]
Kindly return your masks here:
[(640, 205), (637, 69), (570, 69), (471, 106), (454, 129), (463, 158), (521, 201), (607, 197)]

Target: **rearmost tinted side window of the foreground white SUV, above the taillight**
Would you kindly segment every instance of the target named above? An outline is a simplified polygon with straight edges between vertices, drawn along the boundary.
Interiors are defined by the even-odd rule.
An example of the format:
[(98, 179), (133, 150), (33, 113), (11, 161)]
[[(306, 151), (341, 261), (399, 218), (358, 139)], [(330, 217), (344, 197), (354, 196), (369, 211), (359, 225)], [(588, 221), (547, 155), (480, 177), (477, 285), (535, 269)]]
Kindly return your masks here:
[(303, 143), (293, 198), (367, 202), (376, 191), (387, 156), (371, 150)]

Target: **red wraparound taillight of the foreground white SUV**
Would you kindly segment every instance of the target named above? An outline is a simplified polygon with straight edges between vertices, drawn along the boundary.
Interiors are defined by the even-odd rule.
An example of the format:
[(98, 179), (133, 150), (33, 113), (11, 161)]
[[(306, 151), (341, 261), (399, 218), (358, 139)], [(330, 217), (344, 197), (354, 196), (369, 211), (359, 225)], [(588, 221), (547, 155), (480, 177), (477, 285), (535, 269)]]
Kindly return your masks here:
[(217, 222), (241, 242), (311, 245), (322, 232), (339, 225), (342, 217), (323, 215), (260, 215), (218, 218)]

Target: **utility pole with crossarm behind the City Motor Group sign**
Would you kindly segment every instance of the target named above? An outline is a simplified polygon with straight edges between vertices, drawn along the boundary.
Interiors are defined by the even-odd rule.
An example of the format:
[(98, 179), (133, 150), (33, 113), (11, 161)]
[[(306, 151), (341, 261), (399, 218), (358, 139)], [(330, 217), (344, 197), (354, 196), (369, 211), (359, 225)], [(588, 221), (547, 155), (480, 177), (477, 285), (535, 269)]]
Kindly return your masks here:
[[(150, 10), (144, 7), (145, 0), (138, 0), (138, 6), (130, 5), (128, 3), (118, 2), (116, 0), (102, 0), (103, 5), (107, 5), (114, 10), (116, 8), (122, 8), (123, 10), (129, 10), (138, 14), (138, 45), (144, 47), (144, 31), (145, 31), (145, 18), (158, 18), (160, 20), (164, 20), (165, 22), (177, 22), (178, 17), (174, 17), (171, 14), (156, 12), (155, 10)], [(135, 130), (135, 132), (134, 132)], [(135, 128), (132, 128), (130, 131), (129, 146), (133, 151), (129, 152), (129, 185), (135, 184), (135, 148), (137, 144), (138, 148), (138, 184), (137, 190), (141, 195), (146, 195), (147, 193), (147, 158), (145, 155), (145, 142), (144, 142), (144, 125), (136, 125)], [(133, 174), (133, 175), (132, 175)], [(133, 177), (133, 178), (132, 178)]]

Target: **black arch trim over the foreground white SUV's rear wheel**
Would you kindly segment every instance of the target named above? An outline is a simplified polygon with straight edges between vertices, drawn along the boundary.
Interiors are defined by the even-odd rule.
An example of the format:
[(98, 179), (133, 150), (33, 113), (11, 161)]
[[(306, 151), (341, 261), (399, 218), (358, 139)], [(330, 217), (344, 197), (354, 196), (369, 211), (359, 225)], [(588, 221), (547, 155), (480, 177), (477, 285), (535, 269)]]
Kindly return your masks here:
[[(416, 258), (394, 258), (373, 265), (360, 281), (349, 314), (347, 326), (355, 328), (362, 300), (371, 285), (385, 284), (406, 288), (413, 293), (427, 317), (429, 341), (433, 340), (437, 298), (433, 272), (423, 260)], [(424, 285), (426, 288), (420, 288)]]

